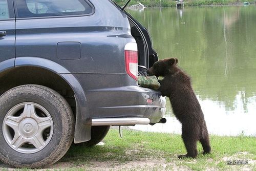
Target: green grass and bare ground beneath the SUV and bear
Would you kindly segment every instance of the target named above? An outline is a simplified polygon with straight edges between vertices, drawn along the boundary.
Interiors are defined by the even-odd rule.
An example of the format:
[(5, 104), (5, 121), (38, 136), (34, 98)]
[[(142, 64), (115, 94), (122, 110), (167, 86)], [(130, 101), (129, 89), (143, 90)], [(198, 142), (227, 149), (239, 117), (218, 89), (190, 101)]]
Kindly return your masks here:
[[(196, 159), (180, 160), (177, 156), (186, 153), (180, 135), (123, 130), (121, 139), (111, 129), (104, 145), (72, 146), (51, 170), (256, 170), (256, 137), (210, 136), (210, 142), (211, 154), (202, 155), (198, 144)], [(227, 160), (249, 164), (228, 165)]]

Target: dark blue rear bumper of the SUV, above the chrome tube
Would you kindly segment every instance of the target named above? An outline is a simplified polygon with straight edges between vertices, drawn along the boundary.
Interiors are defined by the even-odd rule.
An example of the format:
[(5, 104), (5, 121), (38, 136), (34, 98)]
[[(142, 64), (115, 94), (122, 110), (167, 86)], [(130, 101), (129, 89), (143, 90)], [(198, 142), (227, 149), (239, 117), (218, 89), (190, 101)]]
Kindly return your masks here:
[(166, 111), (166, 98), (159, 91), (139, 86), (90, 90), (86, 94), (92, 118), (141, 117), (157, 123)]

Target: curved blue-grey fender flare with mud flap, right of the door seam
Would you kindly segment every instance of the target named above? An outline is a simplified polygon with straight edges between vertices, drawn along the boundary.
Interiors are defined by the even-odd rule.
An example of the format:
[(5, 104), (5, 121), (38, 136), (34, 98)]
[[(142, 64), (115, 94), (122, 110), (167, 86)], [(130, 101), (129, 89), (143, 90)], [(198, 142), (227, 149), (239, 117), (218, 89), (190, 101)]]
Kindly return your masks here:
[[(76, 100), (76, 124), (74, 142), (80, 143), (91, 139), (92, 119), (87, 106), (86, 94), (77, 78), (58, 63), (39, 57), (18, 57), (15, 67), (34, 66), (50, 70), (62, 77), (73, 89)], [(0, 63), (1, 71), (1, 63)]]

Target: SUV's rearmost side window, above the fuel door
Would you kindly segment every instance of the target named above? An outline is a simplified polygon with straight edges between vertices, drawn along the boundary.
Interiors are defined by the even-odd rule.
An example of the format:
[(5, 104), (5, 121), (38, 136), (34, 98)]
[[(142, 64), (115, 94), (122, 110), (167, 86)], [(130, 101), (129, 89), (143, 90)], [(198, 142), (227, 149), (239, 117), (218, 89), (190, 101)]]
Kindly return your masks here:
[(84, 15), (93, 12), (85, 0), (16, 0), (16, 4), (19, 18)]

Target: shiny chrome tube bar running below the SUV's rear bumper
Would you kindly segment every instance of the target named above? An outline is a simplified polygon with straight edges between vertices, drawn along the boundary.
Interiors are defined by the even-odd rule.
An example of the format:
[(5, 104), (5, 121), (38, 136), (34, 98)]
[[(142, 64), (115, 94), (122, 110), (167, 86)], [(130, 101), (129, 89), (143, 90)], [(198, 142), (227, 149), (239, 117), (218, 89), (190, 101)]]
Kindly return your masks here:
[(92, 118), (92, 126), (149, 124), (148, 118)]

